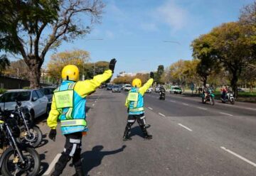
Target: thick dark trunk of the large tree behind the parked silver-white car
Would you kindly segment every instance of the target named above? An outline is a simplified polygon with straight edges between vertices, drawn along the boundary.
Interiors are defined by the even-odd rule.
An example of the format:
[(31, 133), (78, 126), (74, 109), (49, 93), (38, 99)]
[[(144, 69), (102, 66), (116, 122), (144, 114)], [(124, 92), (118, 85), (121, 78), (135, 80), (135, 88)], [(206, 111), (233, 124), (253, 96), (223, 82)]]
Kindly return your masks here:
[(29, 57), (26, 60), (26, 64), (30, 70), (29, 81), (31, 89), (38, 89), (40, 87), (40, 77), (41, 77), (41, 58), (40, 57)]

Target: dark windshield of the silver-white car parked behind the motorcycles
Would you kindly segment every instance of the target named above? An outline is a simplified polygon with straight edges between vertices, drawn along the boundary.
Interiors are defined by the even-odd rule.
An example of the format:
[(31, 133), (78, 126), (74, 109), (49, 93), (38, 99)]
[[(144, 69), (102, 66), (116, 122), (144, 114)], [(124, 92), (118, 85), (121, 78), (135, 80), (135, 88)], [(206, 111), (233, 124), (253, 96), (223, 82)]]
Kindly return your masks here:
[(1, 97), (1, 102), (29, 101), (31, 92), (7, 92)]

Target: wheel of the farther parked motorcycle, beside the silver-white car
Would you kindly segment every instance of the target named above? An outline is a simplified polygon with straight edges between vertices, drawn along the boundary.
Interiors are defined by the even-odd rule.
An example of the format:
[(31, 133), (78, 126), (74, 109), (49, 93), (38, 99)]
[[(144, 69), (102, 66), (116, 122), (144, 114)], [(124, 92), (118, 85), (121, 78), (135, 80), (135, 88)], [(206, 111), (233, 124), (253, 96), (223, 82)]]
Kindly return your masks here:
[(21, 143), (29, 144), (34, 148), (38, 147), (38, 145), (41, 144), (43, 140), (43, 133), (40, 130), (40, 128), (38, 128), (38, 126), (33, 126), (32, 128), (29, 128), (31, 137), (26, 135), (27, 131), (25, 126), (21, 126), (20, 130), (21, 130), (21, 135), (18, 141), (20, 141)]

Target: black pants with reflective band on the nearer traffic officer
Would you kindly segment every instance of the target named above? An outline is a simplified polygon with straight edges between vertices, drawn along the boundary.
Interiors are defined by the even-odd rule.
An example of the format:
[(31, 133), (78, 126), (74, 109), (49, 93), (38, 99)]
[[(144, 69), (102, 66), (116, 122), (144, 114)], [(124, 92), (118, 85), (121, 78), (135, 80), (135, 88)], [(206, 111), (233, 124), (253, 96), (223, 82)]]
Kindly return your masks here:
[(70, 133), (65, 135), (65, 148), (63, 153), (61, 154), (58, 162), (55, 165), (55, 170), (53, 172), (53, 176), (60, 175), (65, 166), (67, 165), (68, 161), (73, 158), (73, 165), (75, 169), (79, 170), (82, 168), (81, 162), (81, 140), (82, 140), (82, 133)]

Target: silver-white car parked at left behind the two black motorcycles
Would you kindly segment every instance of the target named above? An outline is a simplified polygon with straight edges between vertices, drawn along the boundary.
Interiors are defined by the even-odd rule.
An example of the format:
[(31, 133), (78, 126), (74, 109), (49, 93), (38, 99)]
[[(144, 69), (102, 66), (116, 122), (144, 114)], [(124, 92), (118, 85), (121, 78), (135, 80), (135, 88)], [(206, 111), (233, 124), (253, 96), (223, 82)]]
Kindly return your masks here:
[(48, 98), (37, 89), (9, 90), (0, 97), (1, 110), (14, 110), (16, 100), (21, 101), (22, 106), (28, 107), (32, 118), (37, 118), (38, 116), (49, 114), (50, 112)]

